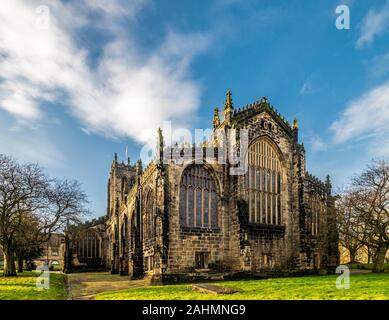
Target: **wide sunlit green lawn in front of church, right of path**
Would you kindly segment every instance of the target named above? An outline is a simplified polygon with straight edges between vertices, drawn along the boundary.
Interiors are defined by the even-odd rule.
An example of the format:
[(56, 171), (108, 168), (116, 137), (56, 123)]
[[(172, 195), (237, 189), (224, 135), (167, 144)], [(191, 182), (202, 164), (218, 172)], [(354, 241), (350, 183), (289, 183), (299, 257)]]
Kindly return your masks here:
[(98, 300), (333, 300), (333, 299), (389, 299), (389, 273), (352, 274), (350, 289), (338, 290), (337, 275), (278, 278), (267, 280), (226, 281), (215, 283), (239, 292), (212, 295), (192, 291), (188, 284), (154, 286), (104, 292)]

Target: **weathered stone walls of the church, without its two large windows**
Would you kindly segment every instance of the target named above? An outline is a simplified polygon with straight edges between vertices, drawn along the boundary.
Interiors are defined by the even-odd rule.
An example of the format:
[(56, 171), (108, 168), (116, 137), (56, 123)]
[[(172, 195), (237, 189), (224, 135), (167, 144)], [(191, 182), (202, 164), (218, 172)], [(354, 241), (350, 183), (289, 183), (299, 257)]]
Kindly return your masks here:
[[(229, 174), (228, 162), (206, 162), (203, 166), (217, 182), (217, 227), (180, 225), (180, 183), (191, 164), (162, 163), (164, 152), (170, 154), (163, 147), (156, 162), (145, 169), (140, 162), (136, 166), (120, 164), (115, 157), (108, 183), (106, 221), (107, 263), (113, 273), (132, 278), (148, 275), (158, 283), (216, 273), (324, 270), (336, 265), (330, 182), (322, 183), (306, 172), (297, 122), (291, 127), (266, 99), (235, 111), (228, 99), (230, 95), (225, 121), (214, 119), (215, 129), (248, 129), (250, 144), (265, 139), (277, 150), (282, 163), (281, 224), (249, 223), (242, 177)], [(163, 146), (161, 132), (159, 139)], [(195, 150), (190, 152), (192, 162), (198, 157)], [(149, 194), (153, 194), (152, 202), (147, 201)], [(316, 212), (310, 207), (313, 198), (320, 199), (324, 208), (317, 234), (310, 229)], [(206, 270), (197, 268), (196, 255), (207, 260)]]

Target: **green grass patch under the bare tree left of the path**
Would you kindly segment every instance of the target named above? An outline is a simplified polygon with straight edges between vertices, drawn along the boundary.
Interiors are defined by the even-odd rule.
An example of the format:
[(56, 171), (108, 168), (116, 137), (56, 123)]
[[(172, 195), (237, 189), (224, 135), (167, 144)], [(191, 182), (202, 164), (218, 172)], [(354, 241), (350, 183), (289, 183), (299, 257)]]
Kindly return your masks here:
[(36, 287), (36, 274), (18, 273), (17, 277), (3, 277), (0, 271), (0, 300), (62, 300), (67, 298), (66, 275), (50, 273), (50, 288)]

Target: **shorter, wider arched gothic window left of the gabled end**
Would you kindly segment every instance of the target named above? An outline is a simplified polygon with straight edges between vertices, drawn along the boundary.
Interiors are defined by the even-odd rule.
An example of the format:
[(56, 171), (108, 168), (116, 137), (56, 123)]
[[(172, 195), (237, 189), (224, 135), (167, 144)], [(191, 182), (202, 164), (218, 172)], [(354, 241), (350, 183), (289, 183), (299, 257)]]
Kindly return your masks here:
[(216, 182), (202, 165), (185, 169), (180, 184), (180, 225), (211, 228), (218, 226)]

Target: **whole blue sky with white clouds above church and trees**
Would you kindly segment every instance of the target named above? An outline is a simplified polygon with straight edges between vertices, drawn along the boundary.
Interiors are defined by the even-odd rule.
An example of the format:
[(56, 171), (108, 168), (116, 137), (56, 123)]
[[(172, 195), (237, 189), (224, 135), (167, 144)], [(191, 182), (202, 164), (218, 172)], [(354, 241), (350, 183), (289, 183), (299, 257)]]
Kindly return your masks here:
[(78, 179), (99, 216), (115, 151), (135, 161), (164, 120), (209, 128), (230, 89), (297, 117), (338, 189), (389, 156), (388, 31), (385, 0), (3, 0), (0, 152)]

